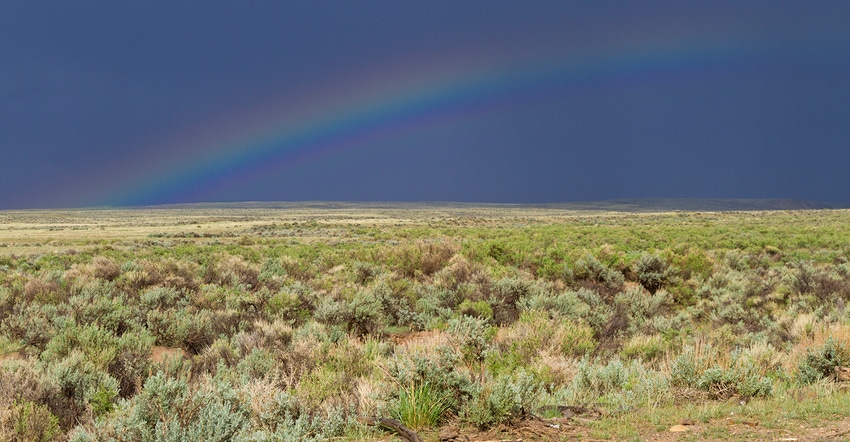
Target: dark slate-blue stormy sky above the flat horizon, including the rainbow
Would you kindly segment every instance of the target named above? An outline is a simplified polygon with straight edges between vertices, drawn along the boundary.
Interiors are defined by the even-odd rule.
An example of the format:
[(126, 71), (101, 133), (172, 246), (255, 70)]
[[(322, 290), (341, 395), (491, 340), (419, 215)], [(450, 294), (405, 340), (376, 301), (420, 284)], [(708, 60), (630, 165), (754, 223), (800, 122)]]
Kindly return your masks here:
[(0, 2), (0, 209), (850, 203), (850, 2)]

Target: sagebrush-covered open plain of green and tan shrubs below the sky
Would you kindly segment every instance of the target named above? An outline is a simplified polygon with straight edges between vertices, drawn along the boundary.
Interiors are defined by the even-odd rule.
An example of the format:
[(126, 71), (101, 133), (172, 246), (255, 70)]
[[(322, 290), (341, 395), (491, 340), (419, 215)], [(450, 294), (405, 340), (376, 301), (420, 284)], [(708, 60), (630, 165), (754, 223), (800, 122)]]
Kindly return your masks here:
[(0, 440), (848, 438), (848, 221), (0, 212)]

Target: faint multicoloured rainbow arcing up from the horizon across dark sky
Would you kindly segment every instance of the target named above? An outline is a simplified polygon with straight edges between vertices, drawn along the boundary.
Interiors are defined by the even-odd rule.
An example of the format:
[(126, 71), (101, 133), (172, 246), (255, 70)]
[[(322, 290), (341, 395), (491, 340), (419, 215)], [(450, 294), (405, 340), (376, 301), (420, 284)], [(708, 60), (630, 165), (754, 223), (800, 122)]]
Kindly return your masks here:
[[(755, 55), (752, 47), (715, 42), (489, 62), (440, 70), (433, 78), (407, 83), (383, 82), (389, 86), (373, 86), (354, 98), (324, 96), (324, 102), (313, 104), (306, 115), (291, 105), (272, 106), (267, 115), (234, 118), (238, 122), (230, 125), (216, 122), (204, 135), (173, 142), (179, 144), (175, 148), (183, 152), (181, 157), (149, 160), (137, 175), (117, 179), (108, 192), (89, 195), (86, 203), (134, 206), (214, 200), (221, 189), (263, 174), (285, 173), (358, 146), (458, 124), (555, 86), (593, 93), (629, 81), (675, 81), (683, 77), (679, 74), (736, 68)], [(412, 75), (410, 70), (407, 74)]]

